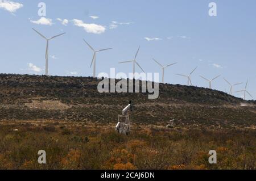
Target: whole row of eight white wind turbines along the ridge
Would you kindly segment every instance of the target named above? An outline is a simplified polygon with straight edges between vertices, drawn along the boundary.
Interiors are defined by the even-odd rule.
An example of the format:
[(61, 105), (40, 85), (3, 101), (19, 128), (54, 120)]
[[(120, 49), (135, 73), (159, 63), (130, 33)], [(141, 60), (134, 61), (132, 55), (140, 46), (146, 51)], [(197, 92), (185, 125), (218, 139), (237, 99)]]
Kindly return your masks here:
[[(49, 58), (49, 40), (52, 40), (52, 39), (55, 39), (56, 37), (58, 36), (61, 36), (61, 35), (64, 35), (65, 33), (61, 33), (59, 35), (56, 35), (56, 36), (53, 36), (51, 38), (47, 38), (46, 36), (42, 35), (42, 33), (36, 31), (34, 28), (32, 28), (36, 33), (38, 33), (41, 37), (43, 37), (43, 39), (46, 40), (46, 75), (48, 75), (48, 58)], [(84, 39), (83, 39), (84, 40)], [(90, 68), (92, 68), (92, 65), (93, 65), (93, 77), (96, 77), (96, 55), (98, 52), (102, 52), (102, 51), (105, 51), (105, 50), (110, 50), (110, 49), (113, 49), (113, 48), (106, 48), (106, 49), (100, 49), (100, 50), (95, 50), (87, 41), (84, 40), (84, 42), (88, 45), (88, 47), (93, 51), (93, 58), (92, 58), (92, 62), (90, 64)], [(123, 61), (123, 62), (119, 62), (119, 64), (125, 64), (125, 63), (130, 63), (132, 62), (133, 63), (133, 74), (135, 74), (135, 65), (137, 65), (144, 73), (145, 71), (142, 69), (141, 65), (139, 65), (139, 63), (137, 62), (137, 56), (138, 56), (138, 53), (139, 53), (139, 49), (141, 47), (138, 48), (137, 50), (137, 53), (135, 54), (135, 57), (134, 57), (134, 60), (130, 60), (130, 61)], [(177, 64), (177, 62), (175, 62), (174, 64), (168, 64), (166, 66), (162, 65), (159, 63), (159, 61), (155, 60), (155, 58), (153, 58), (153, 60), (156, 62), (156, 64), (158, 64), (161, 68), (162, 68), (162, 83), (164, 83), (164, 70), (172, 65), (175, 65)], [(176, 74), (176, 75), (179, 75), (181, 77), (186, 77), (187, 78), (187, 85), (188, 86), (192, 86), (192, 81), (191, 81), (191, 75), (194, 73), (194, 71), (197, 69), (197, 67), (195, 69), (193, 69), (191, 71), (190, 74), (188, 75), (184, 75), (184, 74)], [(203, 76), (200, 75), (201, 78), (205, 79), (205, 81), (208, 81), (209, 82), (209, 89), (212, 89), (212, 82), (214, 80), (216, 80), (217, 78), (221, 77), (221, 75), (218, 75), (217, 77), (214, 77), (213, 79), (207, 79)], [(233, 87), (234, 86), (237, 86), (237, 85), (241, 85), (241, 83), (235, 83), (235, 84), (231, 84), (229, 81), (227, 81), (225, 78), (224, 80), (230, 85), (230, 91), (229, 91), (229, 94), (230, 95), (233, 95)], [(244, 99), (246, 99), (246, 93), (248, 95), (251, 96), (251, 98), (253, 98), (253, 96), (247, 91), (247, 86), (248, 86), (248, 81), (246, 82), (246, 86), (245, 86), (245, 89), (244, 90), (240, 90), (240, 91), (236, 91), (236, 92), (243, 92), (243, 96), (244, 96)]]

